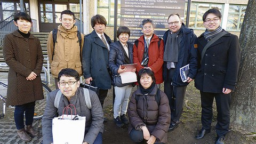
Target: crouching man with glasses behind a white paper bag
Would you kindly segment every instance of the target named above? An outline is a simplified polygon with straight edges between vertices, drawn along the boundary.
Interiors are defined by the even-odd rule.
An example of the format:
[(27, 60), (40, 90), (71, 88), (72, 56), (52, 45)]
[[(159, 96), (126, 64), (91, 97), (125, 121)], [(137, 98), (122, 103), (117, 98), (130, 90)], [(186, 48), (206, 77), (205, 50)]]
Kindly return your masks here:
[[(58, 115), (62, 115), (63, 109), (69, 104), (76, 107), (76, 112), (79, 116), (86, 117), (83, 144), (102, 143), (103, 111), (97, 94), (89, 90), (92, 105), (92, 108), (89, 109), (86, 106), (83, 88), (79, 87), (79, 74), (76, 70), (70, 68), (62, 69), (58, 75), (58, 81), (59, 90), (62, 95), (58, 108), (54, 106), (54, 100), (59, 90), (52, 91), (50, 97), (47, 98), (47, 104), (42, 119), (43, 143), (53, 143), (52, 119)], [(72, 110), (74, 111), (74, 109)]]

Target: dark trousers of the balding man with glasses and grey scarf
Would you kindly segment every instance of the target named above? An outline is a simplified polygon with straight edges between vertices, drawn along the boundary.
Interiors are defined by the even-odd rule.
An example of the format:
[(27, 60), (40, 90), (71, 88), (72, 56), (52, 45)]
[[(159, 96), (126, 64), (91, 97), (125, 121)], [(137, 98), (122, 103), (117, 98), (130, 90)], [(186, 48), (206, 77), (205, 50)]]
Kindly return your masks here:
[(164, 81), (164, 93), (167, 95), (171, 109), (171, 123), (179, 122), (182, 111), (183, 101), (186, 94), (187, 86), (173, 86), (172, 76), (175, 69), (167, 70), (167, 81)]

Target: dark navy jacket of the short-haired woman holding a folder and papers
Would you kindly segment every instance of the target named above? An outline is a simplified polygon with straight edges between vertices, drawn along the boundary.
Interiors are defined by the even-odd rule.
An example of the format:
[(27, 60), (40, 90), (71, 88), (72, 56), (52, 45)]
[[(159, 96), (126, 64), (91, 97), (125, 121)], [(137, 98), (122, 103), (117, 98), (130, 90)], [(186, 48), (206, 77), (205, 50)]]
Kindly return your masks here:
[[(121, 48), (123, 47), (121, 42), (117, 41), (115, 43), (110, 44), (108, 66), (111, 70), (112, 77), (115, 77), (115, 75), (119, 75), (117, 71), (120, 65), (133, 63), (133, 52), (132, 52), (133, 47), (130, 42), (127, 42), (127, 45), (128, 45), (128, 51), (129, 51), (129, 60), (130, 60), (129, 63), (125, 63), (126, 54), (124, 54)], [(115, 85), (115, 82), (113, 82), (113, 84)]]

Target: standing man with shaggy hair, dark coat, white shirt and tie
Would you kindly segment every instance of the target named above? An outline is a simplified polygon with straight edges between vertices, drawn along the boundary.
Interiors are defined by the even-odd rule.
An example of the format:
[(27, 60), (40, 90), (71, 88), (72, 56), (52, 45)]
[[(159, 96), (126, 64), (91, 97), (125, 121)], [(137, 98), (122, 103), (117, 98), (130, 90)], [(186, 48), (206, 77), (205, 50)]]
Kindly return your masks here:
[[(108, 68), (108, 53), (111, 39), (104, 33), (107, 21), (102, 15), (94, 15), (91, 18), (92, 33), (84, 37), (82, 66), (84, 71), (85, 83), (92, 83), (99, 87), (99, 99), (101, 107), (111, 89), (111, 78)], [(104, 118), (106, 122), (107, 119)]]

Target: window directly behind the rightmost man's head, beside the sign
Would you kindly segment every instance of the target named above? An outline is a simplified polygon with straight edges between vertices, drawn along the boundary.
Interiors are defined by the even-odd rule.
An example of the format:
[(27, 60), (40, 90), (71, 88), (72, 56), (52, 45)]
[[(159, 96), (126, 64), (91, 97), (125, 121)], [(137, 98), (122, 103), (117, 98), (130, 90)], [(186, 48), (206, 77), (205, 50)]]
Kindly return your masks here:
[[(223, 14), (223, 4), (217, 3), (197, 3), (192, 2), (190, 7), (190, 18), (189, 18), (189, 28), (193, 29), (205, 29), (203, 25), (203, 15), (204, 13), (212, 8), (218, 9), (221, 14)], [(184, 11), (184, 21), (186, 21), (187, 17), (187, 3), (185, 4)]]

